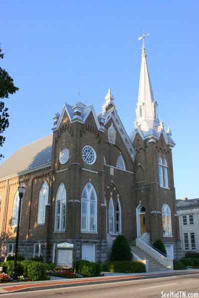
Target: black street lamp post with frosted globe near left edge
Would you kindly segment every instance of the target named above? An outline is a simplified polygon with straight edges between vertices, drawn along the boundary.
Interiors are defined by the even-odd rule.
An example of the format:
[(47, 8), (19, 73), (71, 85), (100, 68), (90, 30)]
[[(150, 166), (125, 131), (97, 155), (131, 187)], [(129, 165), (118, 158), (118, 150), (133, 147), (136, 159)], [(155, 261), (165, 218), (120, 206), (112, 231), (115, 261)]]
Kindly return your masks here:
[(13, 267), (13, 279), (18, 278), (18, 267), (17, 267), (17, 255), (18, 255), (18, 242), (19, 242), (19, 232), (20, 232), (20, 217), (21, 217), (21, 206), (22, 206), (22, 198), (26, 191), (26, 187), (23, 183), (18, 187), (19, 192), (19, 209), (18, 209), (18, 224), (17, 224), (17, 235), (16, 235), (16, 247), (15, 247), (15, 263)]

